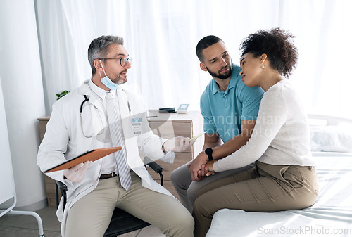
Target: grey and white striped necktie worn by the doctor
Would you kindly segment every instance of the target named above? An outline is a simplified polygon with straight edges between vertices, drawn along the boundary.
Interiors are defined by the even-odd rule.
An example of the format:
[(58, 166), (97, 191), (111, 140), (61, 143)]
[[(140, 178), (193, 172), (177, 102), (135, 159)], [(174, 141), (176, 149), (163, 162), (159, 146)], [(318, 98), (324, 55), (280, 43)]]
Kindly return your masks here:
[(106, 93), (106, 113), (108, 115), (108, 124), (111, 134), (111, 141), (113, 146), (121, 146), (122, 150), (115, 152), (116, 162), (118, 164), (118, 175), (120, 177), (121, 186), (125, 188), (126, 191), (130, 189), (132, 184), (130, 169), (127, 165), (127, 155), (125, 149), (125, 140), (123, 138), (123, 131), (121, 129), (121, 124), (116, 111), (116, 103), (113, 100), (113, 95), (108, 91)]

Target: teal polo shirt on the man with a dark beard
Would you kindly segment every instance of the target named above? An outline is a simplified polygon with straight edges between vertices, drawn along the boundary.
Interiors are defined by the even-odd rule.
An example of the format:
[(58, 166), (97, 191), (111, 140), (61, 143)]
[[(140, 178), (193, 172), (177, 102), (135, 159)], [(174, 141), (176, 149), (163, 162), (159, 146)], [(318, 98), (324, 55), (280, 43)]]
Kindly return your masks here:
[(201, 95), (204, 131), (218, 133), (223, 142), (241, 134), (242, 120), (256, 120), (264, 95), (260, 87), (247, 87), (239, 75), (241, 68), (232, 65), (230, 84), (221, 91), (212, 79)]

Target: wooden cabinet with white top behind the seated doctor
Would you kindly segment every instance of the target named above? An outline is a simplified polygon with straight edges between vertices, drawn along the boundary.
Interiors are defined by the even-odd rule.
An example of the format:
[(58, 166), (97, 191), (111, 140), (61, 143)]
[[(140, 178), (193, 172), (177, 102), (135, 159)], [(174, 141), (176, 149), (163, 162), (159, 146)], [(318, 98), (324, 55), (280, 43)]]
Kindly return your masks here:
[[(165, 139), (172, 139), (175, 136), (192, 137), (203, 132), (203, 119), (199, 111), (189, 111), (187, 114), (177, 113), (159, 113), (158, 110), (149, 110), (150, 115), (156, 117), (149, 117), (149, 127), (151, 127), (154, 134), (161, 136)], [(46, 123), (49, 121), (50, 116), (39, 118), (39, 134), (42, 141)], [(172, 186), (170, 181), (170, 174), (172, 170), (184, 165), (190, 160), (194, 159), (196, 155), (201, 152), (204, 143), (204, 136), (197, 139), (196, 143), (191, 148), (188, 148), (183, 153), (175, 153), (175, 161), (173, 164), (157, 161), (159, 165), (163, 167), (163, 186), (170, 191), (175, 197), (178, 198), (175, 188)], [(148, 168), (150, 169), (150, 168)], [(160, 177), (155, 172), (149, 172), (153, 179), (158, 181)], [(45, 175), (46, 184), (46, 196), (48, 198), (49, 207), (56, 207), (55, 198), (55, 183), (53, 179), (50, 179)]]

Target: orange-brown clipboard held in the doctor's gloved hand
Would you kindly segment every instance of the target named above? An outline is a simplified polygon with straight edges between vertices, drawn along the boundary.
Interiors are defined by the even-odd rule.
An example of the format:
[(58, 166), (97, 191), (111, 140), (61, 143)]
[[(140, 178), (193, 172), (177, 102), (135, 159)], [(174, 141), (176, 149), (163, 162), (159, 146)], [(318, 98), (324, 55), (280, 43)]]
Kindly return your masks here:
[(83, 153), (82, 155), (78, 155), (75, 158), (67, 160), (61, 163), (60, 165), (56, 165), (56, 167), (52, 167), (51, 169), (46, 170), (44, 173), (55, 172), (63, 169), (70, 169), (71, 167), (74, 167), (75, 165), (78, 165), (82, 162), (86, 162), (88, 160), (91, 160), (91, 161), (99, 160), (100, 158), (103, 158), (104, 156), (110, 155), (111, 153), (114, 153), (121, 149), (122, 148), (118, 146), (118, 147), (111, 147), (111, 148), (100, 148), (100, 149), (88, 150), (86, 153)]

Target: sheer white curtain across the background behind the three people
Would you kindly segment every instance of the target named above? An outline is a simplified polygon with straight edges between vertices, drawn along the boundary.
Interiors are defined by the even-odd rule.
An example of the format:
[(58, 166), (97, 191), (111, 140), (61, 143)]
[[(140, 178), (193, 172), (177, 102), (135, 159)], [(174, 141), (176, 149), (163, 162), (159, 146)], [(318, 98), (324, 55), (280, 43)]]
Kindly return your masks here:
[[(238, 63), (238, 46), (259, 29), (282, 27), (296, 35), (300, 53), (291, 81), (308, 113), (352, 117), (348, 74), (348, 0), (34, 0), (37, 6), (46, 111), (55, 94), (91, 77), (90, 41), (102, 34), (125, 38), (133, 57), (125, 87), (142, 94), (149, 108), (190, 103), (210, 81), (199, 68), (196, 44), (215, 34)], [(78, 109), (78, 108), (77, 108)]]

